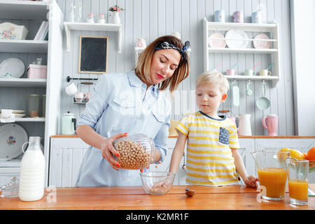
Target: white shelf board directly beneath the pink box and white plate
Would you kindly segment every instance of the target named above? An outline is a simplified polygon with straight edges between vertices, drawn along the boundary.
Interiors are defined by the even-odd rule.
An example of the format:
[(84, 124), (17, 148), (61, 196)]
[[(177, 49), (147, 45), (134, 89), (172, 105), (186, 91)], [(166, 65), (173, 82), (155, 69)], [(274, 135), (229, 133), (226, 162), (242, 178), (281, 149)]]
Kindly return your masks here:
[(46, 87), (44, 78), (0, 78), (0, 87)]

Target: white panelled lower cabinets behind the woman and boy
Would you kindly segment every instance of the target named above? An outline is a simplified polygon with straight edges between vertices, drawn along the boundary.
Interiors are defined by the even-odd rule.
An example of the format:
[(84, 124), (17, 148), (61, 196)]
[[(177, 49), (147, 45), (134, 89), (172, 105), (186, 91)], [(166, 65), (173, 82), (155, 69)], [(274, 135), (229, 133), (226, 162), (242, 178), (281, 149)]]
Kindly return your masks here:
[[(172, 153), (176, 144), (176, 138), (169, 138), (167, 158), (157, 167), (153, 164), (150, 169), (153, 171), (168, 171), (171, 162)], [(51, 138), (50, 148), (50, 169), (49, 169), (49, 185), (57, 187), (72, 187), (76, 183), (78, 171), (85, 151), (89, 146), (79, 138)], [(251, 152), (260, 150), (261, 148), (294, 148), (306, 153), (309, 148), (315, 146), (315, 139), (249, 139), (240, 138), (238, 149), (239, 154), (246, 167), (248, 175), (257, 176), (257, 169)], [(186, 148), (185, 148), (186, 153)], [(179, 165), (178, 172), (174, 179), (174, 185), (186, 185), (186, 169), (183, 165), (186, 163), (184, 156)], [(310, 183), (315, 183), (315, 174), (310, 174)]]

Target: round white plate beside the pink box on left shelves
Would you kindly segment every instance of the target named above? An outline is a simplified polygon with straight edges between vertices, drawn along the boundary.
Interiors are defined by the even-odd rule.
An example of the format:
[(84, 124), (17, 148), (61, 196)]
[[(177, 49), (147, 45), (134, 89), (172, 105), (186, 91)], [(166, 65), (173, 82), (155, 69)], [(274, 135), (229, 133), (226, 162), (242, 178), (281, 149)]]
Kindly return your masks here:
[(9, 57), (0, 64), (0, 76), (10, 73), (13, 78), (20, 78), (23, 76), (24, 71), (24, 63), (16, 57)]

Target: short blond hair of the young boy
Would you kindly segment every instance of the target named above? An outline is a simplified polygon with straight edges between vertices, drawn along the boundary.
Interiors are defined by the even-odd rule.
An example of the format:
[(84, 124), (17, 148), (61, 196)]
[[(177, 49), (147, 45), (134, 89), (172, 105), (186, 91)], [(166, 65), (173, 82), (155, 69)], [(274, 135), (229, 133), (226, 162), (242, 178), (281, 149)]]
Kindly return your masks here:
[(196, 80), (196, 89), (200, 85), (209, 84), (219, 85), (219, 89), (221, 90), (222, 94), (227, 93), (230, 87), (228, 79), (218, 71), (206, 71), (202, 73)]

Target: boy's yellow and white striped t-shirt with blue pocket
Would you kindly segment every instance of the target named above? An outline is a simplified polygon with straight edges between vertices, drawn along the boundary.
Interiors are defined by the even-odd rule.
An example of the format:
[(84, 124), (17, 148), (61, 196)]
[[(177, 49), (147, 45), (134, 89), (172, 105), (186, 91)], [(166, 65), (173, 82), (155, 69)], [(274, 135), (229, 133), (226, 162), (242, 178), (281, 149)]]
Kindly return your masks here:
[(230, 148), (239, 148), (237, 128), (226, 117), (215, 119), (197, 111), (176, 126), (188, 136), (186, 182), (205, 186), (239, 184)]

